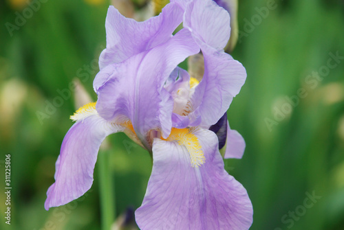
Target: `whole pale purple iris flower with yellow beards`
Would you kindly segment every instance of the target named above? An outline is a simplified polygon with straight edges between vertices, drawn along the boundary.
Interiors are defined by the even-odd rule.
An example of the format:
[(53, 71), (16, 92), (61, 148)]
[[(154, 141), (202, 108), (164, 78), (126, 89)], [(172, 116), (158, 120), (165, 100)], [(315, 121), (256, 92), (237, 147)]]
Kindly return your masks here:
[[(125, 132), (153, 156), (147, 192), (136, 210), (140, 229), (250, 227), (246, 189), (224, 170), (219, 139), (209, 130), (226, 124), (225, 157), (241, 158), (244, 140), (223, 118), (246, 79), (244, 67), (224, 53), (229, 20), (211, 0), (175, 0), (144, 22), (110, 6), (107, 47), (94, 80), (98, 101), (71, 116), (76, 123), (63, 139), (45, 209), (87, 192), (100, 143)], [(184, 27), (172, 35), (180, 23)], [(178, 65), (200, 51), (199, 81)]]

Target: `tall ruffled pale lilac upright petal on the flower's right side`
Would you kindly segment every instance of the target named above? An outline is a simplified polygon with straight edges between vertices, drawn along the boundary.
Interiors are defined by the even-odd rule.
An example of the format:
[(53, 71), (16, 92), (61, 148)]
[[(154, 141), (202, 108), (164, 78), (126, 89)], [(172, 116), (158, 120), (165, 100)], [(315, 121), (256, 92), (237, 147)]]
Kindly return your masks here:
[(177, 3), (186, 10), (184, 27), (200, 46), (204, 56), (204, 76), (191, 98), (191, 122), (202, 116), (202, 127), (215, 124), (228, 110), (233, 97), (239, 93), (246, 80), (246, 70), (241, 63), (224, 53), (230, 36), (229, 14), (211, 0), (194, 0)]

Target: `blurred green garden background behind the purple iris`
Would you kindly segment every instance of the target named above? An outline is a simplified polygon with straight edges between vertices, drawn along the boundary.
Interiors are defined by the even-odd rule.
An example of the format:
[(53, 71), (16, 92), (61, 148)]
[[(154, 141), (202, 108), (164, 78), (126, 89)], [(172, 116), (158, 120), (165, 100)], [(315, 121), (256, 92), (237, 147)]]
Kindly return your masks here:
[[(0, 1), (0, 229), (8, 227), (5, 154), (12, 162), (8, 229), (100, 229), (98, 163), (85, 198), (45, 211), (61, 142), (73, 124), (74, 99), (67, 97), (44, 119), (37, 111), (45, 113), (58, 91), (81, 74), (96, 100), (92, 81), (98, 69), (87, 66), (105, 47), (109, 2), (40, 3), (30, 16), (26, 1)], [(145, 4), (136, 0), (134, 7)], [(239, 1), (233, 57), (248, 77), (228, 119), (247, 147), (243, 159), (225, 160), (226, 170), (248, 190), (255, 212), (251, 229), (343, 230), (344, 60), (332, 56), (344, 56), (344, 1), (279, 0), (275, 9), (267, 4)], [(6, 23), (18, 25), (23, 13), (28, 19), (11, 27), (10, 36)], [(140, 206), (152, 165), (149, 154), (125, 135), (108, 140), (120, 215)], [(312, 194), (316, 198), (304, 203)]]

